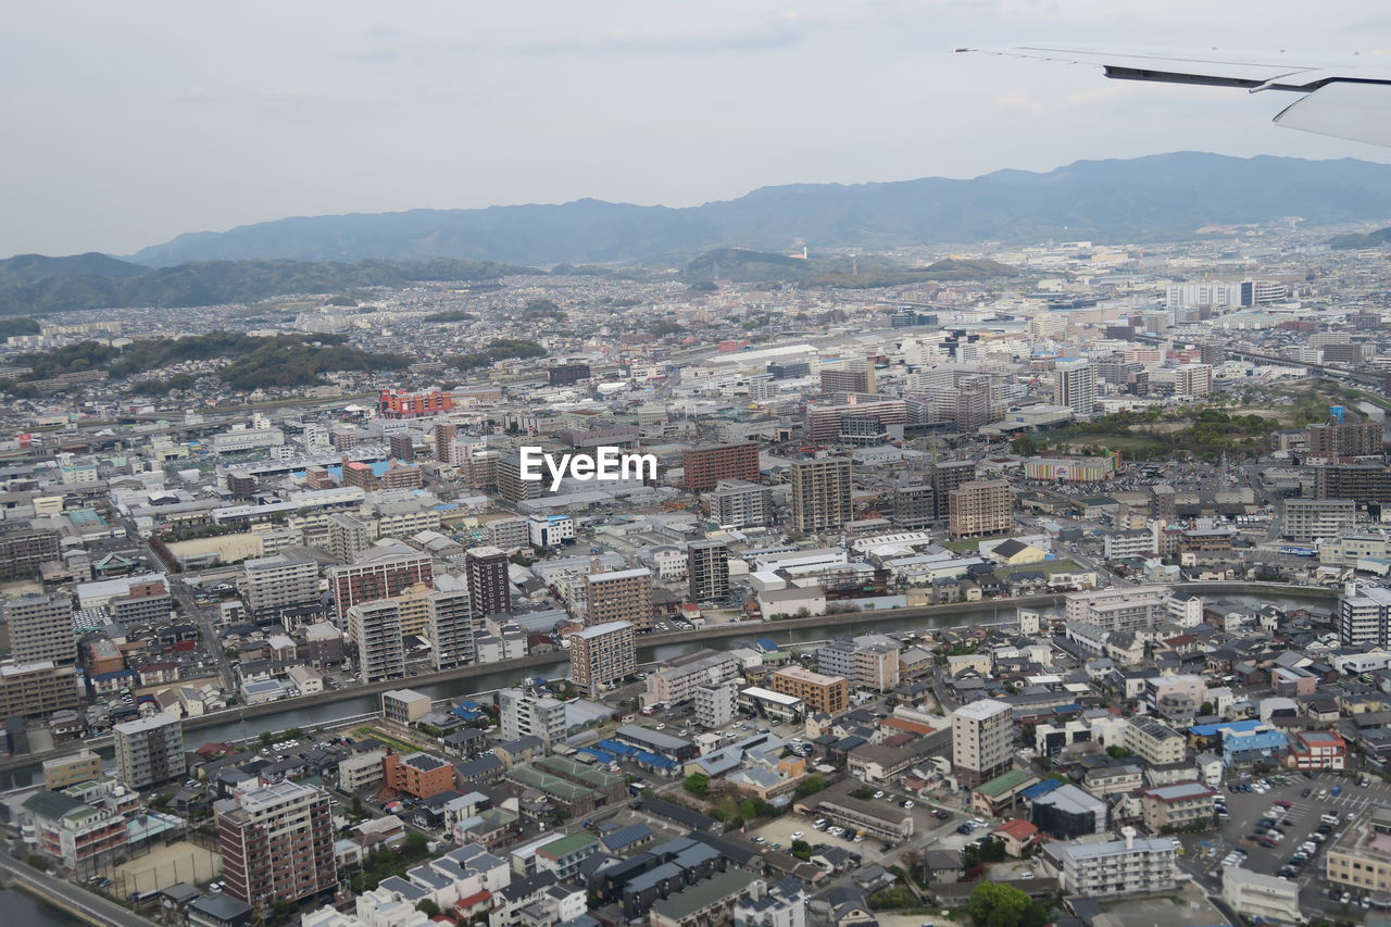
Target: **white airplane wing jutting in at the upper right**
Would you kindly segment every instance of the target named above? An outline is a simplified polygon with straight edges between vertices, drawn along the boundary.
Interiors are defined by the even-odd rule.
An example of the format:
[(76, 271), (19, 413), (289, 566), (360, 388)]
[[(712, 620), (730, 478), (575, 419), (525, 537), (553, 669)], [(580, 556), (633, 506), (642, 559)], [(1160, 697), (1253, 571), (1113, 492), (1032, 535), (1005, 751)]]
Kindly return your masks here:
[(1235, 86), (1252, 93), (1260, 90), (1302, 93), (1302, 97), (1274, 117), (1276, 125), (1391, 148), (1391, 63), (1370, 57), (1328, 64), (1312, 56), (1284, 52), (1159, 53), (1057, 46), (957, 49), (957, 52), (1095, 64), (1106, 77), (1121, 81)]

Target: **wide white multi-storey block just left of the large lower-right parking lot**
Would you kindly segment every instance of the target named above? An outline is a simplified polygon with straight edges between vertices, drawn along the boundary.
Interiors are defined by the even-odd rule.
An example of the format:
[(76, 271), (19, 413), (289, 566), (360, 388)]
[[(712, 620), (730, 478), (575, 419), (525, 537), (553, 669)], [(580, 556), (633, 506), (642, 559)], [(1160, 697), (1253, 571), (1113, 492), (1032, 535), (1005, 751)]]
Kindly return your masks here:
[(1045, 855), (1057, 870), (1068, 895), (1111, 898), (1116, 895), (1159, 894), (1178, 884), (1178, 855), (1167, 837), (1138, 838), (1123, 828), (1124, 839), (1081, 838), (1045, 845)]

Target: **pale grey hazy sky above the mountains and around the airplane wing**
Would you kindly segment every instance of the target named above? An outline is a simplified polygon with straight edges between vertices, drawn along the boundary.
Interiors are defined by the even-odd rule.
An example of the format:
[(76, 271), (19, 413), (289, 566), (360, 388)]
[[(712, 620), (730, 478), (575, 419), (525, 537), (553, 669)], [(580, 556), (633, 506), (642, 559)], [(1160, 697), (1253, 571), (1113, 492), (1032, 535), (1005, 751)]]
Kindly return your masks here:
[[(1391, 149), (1270, 124), (1292, 95), (1106, 81), (954, 46), (1391, 52), (1369, 0), (17, 3), (0, 255), (129, 253), (285, 216), (686, 206), (1196, 149)], [(1391, 67), (1391, 58), (1388, 58)]]

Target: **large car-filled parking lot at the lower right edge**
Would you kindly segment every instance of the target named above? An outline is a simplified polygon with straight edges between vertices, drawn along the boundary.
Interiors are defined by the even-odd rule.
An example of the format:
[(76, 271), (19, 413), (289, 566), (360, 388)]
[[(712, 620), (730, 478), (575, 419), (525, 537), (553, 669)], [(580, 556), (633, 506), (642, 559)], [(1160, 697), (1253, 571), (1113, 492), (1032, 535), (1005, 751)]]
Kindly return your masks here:
[[(1340, 902), (1330, 901), (1324, 895), (1323, 850), (1342, 834), (1348, 825), (1349, 814), (1360, 814), (1372, 803), (1391, 805), (1391, 785), (1373, 779), (1370, 785), (1360, 786), (1355, 778), (1331, 772), (1320, 772), (1312, 779), (1298, 772), (1281, 775), (1288, 782), (1276, 784), (1264, 793), (1223, 789), (1221, 796), (1231, 817), (1225, 820), (1219, 835), (1182, 837), (1184, 864), (1205, 882), (1219, 885), (1224, 869), (1223, 860), (1234, 849), (1246, 853), (1235, 863), (1237, 866), (1264, 876), (1276, 876), (1296, 852), (1301, 852), (1301, 846), (1306, 842), (1314, 842), (1316, 849), (1308, 853), (1308, 862), (1289, 877), (1301, 887), (1299, 901), (1302, 906), (1312, 910), (1337, 912)], [(1338, 791), (1338, 795), (1334, 795), (1334, 789)], [(1280, 816), (1269, 814), (1277, 802), (1288, 802), (1289, 807), (1284, 809)], [(1320, 818), (1324, 814), (1335, 814), (1338, 823), (1331, 825), (1327, 839), (1319, 843), (1312, 841), (1312, 837), (1317, 832)], [(1276, 830), (1284, 834), (1284, 838), (1273, 848), (1252, 839), (1253, 837), (1264, 837), (1264, 834), (1257, 835), (1256, 830), (1260, 827), (1259, 821), (1267, 817), (1274, 821)], [(1328, 820), (1331, 821), (1331, 817)], [(1270, 832), (1267, 830), (1267, 834)]]

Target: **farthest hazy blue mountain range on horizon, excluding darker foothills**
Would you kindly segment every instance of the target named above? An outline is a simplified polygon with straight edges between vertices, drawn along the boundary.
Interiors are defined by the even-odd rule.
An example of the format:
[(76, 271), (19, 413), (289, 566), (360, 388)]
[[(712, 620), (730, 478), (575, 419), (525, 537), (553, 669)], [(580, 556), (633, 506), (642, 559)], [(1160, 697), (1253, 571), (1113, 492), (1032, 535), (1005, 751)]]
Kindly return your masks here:
[(972, 180), (764, 187), (684, 209), (580, 199), (559, 205), (312, 216), (179, 235), (131, 256), (202, 260), (640, 262), (711, 248), (883, 249), (1047, 238), (1173, 241), (1206, 225), (1302, 216), (1391, 217), (1391, 166), (1355, 159), (1227, 157), (1198, 152), (1077, 161)]

